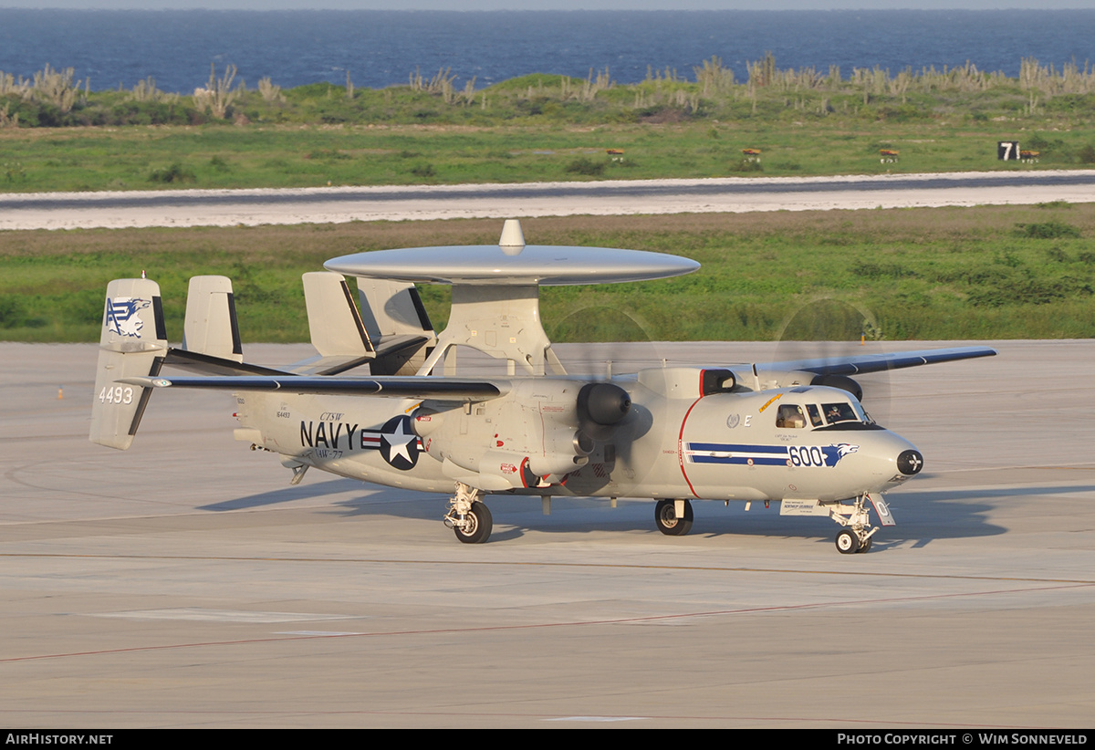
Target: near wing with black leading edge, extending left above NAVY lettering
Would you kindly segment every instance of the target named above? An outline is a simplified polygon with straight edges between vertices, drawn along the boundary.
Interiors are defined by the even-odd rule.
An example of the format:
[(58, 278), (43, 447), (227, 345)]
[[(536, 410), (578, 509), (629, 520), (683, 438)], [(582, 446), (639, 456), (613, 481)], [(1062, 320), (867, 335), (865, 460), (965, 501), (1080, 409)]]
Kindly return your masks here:
[(426, 377), (215, 376), (209, 378), (125, 378), (117, 382), (140, 388), (286, 391), (287, 393), (313, 393), (316, 395), (371, 395), (439, 401), (489, 401), (509, 391), (509, 383), (506, 381)]

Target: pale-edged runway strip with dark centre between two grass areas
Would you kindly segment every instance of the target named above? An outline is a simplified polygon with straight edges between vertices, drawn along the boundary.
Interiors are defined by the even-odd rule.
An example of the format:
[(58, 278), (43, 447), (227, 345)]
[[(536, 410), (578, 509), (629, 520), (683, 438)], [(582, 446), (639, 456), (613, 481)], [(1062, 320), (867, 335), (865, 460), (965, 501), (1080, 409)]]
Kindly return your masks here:
[(1095, 200), (1093, 170), (0, 195), (0, 230), (230, 227)]

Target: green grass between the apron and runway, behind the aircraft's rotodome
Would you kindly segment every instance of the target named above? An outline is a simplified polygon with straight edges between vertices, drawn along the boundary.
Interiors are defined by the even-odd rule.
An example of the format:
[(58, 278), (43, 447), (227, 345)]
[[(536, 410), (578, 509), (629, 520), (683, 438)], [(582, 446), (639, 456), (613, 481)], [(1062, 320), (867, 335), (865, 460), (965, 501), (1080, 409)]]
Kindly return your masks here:
[[(557, 341), (768, 341), (797, 313), (817, 318), (834, 303), (866, 311), (877, 326), (868, 333), (887, 339), (1095, 336), (1095, 204), (522, 223), (537, 244), (652, 250), (703, 264), (662, 281), (544, 289), (544, 327)], [(307, 341), (300, 274), (326, 258), (494, 243), (499, 230), (494, 220), (453, 220), (3, 232), (0, 338), (97, 341), (106, 282), (146, 270), (161, 285), (174, 341), (197, 274), (233, 279), (245, 342)], [(442, 326), (448, 288), (423, 296)]]

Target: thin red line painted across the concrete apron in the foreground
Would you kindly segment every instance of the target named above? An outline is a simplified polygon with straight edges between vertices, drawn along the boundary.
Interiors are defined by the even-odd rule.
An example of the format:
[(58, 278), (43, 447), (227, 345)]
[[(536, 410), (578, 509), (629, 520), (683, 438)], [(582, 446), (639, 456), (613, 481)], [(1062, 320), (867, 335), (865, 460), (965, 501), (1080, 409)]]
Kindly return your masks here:
[(163, 644), (159, 646), (128, 646), (125, 648), (103, 648), (90, 651), (71, 651), (64, 654), (37, 654), (33, 656), (15, 656), (0, 659), (0, 664), (12, 664), (18, 661), (37, 661), (43, 659), (65, 659), (81, 656), (107, 656), (112, 654), (138, 654), (142, 651), (168, 651), (184, 648), (210, 648), (215, 646), (246, 646), (255, 644), (289, 643), (293, 641), (316, 641), (322, 638), (376, 638), (383, 636), (407, 636), (407, 635), (448, 635), (469, 633), (499, 633), (506, 631), (531, 631), (546, 630), (555, 627), (583, 627), (588, 625), (627, 625), (649, 622), (671, 622), (685, 618), (713, 618), (733, 616), (740, 614), (763, 614), (770, 612), (795, 612), (820, 609), (835, 609), (843, 607), (860, 607), (864, 604), (883, 604), (914, 601), (940, 601), (945, 599), (966, 599), (972, 597), (987, 597), (1012, 593), (1030, 593), (1034, 591), (1054, 591), (1070, 588), (1088, 588), (1095, 586), (1092, 582), (1067, 586), (1040, 586), (1026, 589), (996, 589), (989, 591), (968, 591), (960, 593), (936, 593), (917, 597), (880, 597), (876, 599), (844, 599), (839, 601), (825, 601), (808, 604), (776, 604), (771, 607), (747, 607), (730, 610), (710, 610), (704, 612), (681, 612), (678, 614), (656, 614), (639, 618), (612, 618), (603, 620), (574, 620), (569, 622), (530, 623), (522, 625), (473, 625), (468, 627), (437, 627), (408, 631), (378, 631), (376, 633), (354, 633), (354, 634), (321, 634), (321, 635), (290, 635), (266, 638), (238, 638), (232, 641), (201, 641), (194, 643)]

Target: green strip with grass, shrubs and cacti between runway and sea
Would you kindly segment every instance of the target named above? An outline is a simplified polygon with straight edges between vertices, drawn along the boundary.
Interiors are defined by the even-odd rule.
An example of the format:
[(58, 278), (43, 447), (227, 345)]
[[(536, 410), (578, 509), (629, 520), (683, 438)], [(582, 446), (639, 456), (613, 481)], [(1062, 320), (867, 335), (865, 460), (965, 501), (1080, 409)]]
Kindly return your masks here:
[[(224, 117), (192, 96), (81, 92), (61, 113), (0, 95), (0, 191), (307, 187), (725, 175), (1083, 168), (1095, 163), (1095, 79), (1042, 69), (1033, 88), (959, 68), (758, 83), (653, 74), (618, 85), (535, 73), (470, 96), (436, 86), (314, 83), (266, 101), (235, 91)], [(725, 76), (712, 60), (708, 70)], [(1024, 60), (1028, 73), (1034, 61)], [(846, 73), (848, 71), (845, 71)], [(903, 77), (903, 78), (902, 78)], [(698, 79), (704, 79), (696, 71)], [(716, 76), (717, 78), (717, 76)], [(898, 85), (901, 79), (900, 85)], [(1091, 79), (1091, 80), (1090, 80)], [(706, 79), (704, 79), (706, 80)], [(1068, 85), (1065, 85), (1068, 83)], [(1056, 93), (1074, 90), (1087, 93)], [(80, 126), (80, 127), (73, 127)], [(996, 160), (998, 140), (1039, 151)], [(609, 149), (623, 150), (613, 158)], [(760, 149), (747, 161), (742, 149)], [(900, 152), (884, 161), (881, 149)]]

